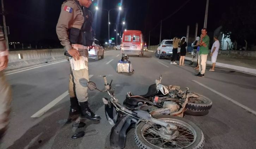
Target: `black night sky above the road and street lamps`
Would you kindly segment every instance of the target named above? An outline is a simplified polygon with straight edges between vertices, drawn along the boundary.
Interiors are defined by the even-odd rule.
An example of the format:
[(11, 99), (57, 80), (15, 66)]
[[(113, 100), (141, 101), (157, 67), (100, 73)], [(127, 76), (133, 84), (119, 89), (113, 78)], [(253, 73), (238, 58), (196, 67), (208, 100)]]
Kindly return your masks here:
[[(61, 4), (64, 0), (5, 0), (6, 22), (10, 26), (9, 42), (37, 42), (52, 40), (58, 44), (56, 24), (59, 18)], [(221, 15), (235, 0), (209, 0), (208, 32), (213, 32), (220, 26)], [(199, 33), (205, 18), (206, 0), (96, 0), (90, 9), (95, 17), (93, 28), (96, 38), (104, 43), (108, 40), (108, 12), (95, 10), (94, 3), (99, 8), (118, 8), (122, 3), (125, 8), (121, 12), (112, 10), (110, 22), (126, 22), (125, 26), (118, 25), (120, 30), (141, 30), (148, 43), (148, 33), (151, 32), (151, 45), (159, 43), (160, 20), (187, 3), (184, 7), (163, 21), (162, 39), (175, 36), (183, 37), (190, 25), (190, 37), (194, 37), (195, 24), (199, 23)], [(2, 19), (1, 19), (2, 21)], [(115, 37), (116, 25), (110, 25), (110, 37)], [(119, 37), (118, 37), (119, 38)], [(118, 40), (119, 42), (119, 40)]]

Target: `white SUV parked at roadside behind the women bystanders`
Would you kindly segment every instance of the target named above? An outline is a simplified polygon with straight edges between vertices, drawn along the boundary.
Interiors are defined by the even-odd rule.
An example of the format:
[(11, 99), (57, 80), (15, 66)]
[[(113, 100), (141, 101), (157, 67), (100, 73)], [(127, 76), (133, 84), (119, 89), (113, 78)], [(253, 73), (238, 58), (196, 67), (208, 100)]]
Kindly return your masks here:
[[(155, 53), (156, 57), (162, 59), (163, 57), (172, 57), (172, 39), (171, 40), (163, 40), (161, 44), (158, 46), (157, 51)], [(178, 47), (178, 55), (177, 59), (180, 57), (181, 48)]]

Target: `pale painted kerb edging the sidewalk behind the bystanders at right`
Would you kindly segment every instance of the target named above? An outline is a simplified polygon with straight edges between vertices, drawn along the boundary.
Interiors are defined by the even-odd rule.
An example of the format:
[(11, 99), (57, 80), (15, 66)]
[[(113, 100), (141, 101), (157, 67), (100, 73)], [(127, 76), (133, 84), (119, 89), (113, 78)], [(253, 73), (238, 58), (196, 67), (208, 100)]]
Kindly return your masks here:
[[(192, 58), (185, 57), (185, 59), (186, 60), (191, 60)], [(212, 62), (207, 60), (206, 64), (212, 65)], [(251, 68), (247, 68), (247, 67), (241, 67), (241, 66), (218, 63), (218, 62), (216, 62), (216, 66), (223, 67), (223, 68), (228, 68), (228, 69), (233, 69), (233, 70), (236, 70), (236, 71), (245, 72), (245, 73), (249, 73), (249, 74), (254, 74), (254, 75), (256, 74), (256, 69), (251, 69)]]

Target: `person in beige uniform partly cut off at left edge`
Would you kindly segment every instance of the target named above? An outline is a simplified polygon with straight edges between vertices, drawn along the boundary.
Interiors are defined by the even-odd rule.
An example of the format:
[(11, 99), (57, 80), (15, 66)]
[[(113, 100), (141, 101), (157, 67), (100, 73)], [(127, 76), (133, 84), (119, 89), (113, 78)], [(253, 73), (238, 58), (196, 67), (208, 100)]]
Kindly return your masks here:
[(11, 88), (7, 84), (3, 72), (8, 65), (8, 54), (4, 33), (0, 26), (0, 139), (7, 129), (8, 117), (11, 111)]

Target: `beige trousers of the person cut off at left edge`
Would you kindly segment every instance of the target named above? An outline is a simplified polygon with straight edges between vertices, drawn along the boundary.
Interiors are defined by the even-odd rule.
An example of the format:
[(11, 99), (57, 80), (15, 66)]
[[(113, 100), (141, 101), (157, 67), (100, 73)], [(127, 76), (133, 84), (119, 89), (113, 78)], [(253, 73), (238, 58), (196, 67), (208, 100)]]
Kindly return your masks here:
[(0, 137), (9, 122), (11, 99), (11, 88), (6, 82), (4, 73), (0, 71)]

